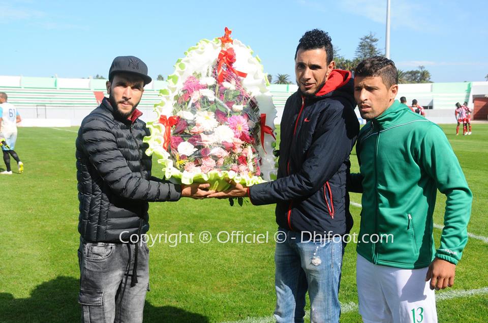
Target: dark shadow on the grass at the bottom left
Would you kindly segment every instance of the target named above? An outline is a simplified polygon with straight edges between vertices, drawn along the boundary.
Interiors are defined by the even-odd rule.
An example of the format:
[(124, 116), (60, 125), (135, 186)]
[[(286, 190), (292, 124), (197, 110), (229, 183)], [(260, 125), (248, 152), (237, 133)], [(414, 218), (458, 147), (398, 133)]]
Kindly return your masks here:
[[(0, 321), (3, 323), (79, 322), (79, 281), (59, 276), (37, 286), (29, 298), (15, 299), (12, 294), (0, 293)], [(208, 323), (208, 318), (183, 309), (155, 307), (146, 301), (144, 322)]]

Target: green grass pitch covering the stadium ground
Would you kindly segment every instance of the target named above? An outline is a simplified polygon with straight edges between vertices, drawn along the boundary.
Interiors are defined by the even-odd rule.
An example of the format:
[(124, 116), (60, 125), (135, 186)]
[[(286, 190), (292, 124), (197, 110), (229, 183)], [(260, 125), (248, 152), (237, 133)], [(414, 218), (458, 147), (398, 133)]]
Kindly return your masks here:
[[(458, 137), (454, 135), (455, 125), (442, 128), (474, 194), (468, 231), (486, 237), (488, 125), (474, 124), (471, 136)], [(76, 130), (19, 128), (16, 151), (25, 171), (0, 175), (0, 322), (79, 321)], [(354, 151), (351, 161), (352, 171), (358, 171)], [(2, 168), (3, 162), (0, 165)], [(16, 167), (13, 169), (15, 172)], [(162, 176), (156, 162), (153, 173)], [(360, 203), (360, 195), (352, 194), (351, 200)], [(443, 223), (444, 201), (439, 194), (436, 224)], [(358, 232), (360, 208), (351, 206), (351, 211), (353, 231)], [(161, 234), (162, 242), (150, 247), (151, 291), (144, 321), (199, 323), (250, 317), (256, 319), (248, 321), (270, 321), (276, 302), (273, 234), (277, 225), (273, 205), (230, 207), (226, 200), (182, 199), (152, 203), (149, 213), (149, 233)], [(256, 235), (268, 232), (269, 241), (217, 241), (219, 232), (237, 230)], [(212, 234), (212, 241), (199, 241), (203, 231)], [(186, 243), (182, 236), (183, 241), (172, 246), (175, 236), (169, 235), (180, 232), (194, 233), (194, 243)], [(436, 241), (439, 235), (440, 230), (435, 229)], [(220, 237), (222, 240), (226, 235)], [(488, 321), (487, 256), (488, 244), (470, 238), (457, 266), (454, 287), (437, 292), (440, 322)], [(355, 245), (351, 243), (344, 256), (342, 322), (360, 321), (355, 309), (355, 259)]]

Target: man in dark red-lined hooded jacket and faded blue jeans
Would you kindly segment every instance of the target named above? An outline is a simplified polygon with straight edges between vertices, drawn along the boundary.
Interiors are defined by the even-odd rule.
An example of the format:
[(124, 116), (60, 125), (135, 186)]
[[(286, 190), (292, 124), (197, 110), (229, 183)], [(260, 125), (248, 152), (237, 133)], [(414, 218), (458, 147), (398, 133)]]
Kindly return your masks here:
[(311, 321), (339, 321), (345, 245), (340, 236), (352, 227), (346, 175), (359, 122), (351, 73), (333, 69), (332, 53), (330, 37), (322, 30), (307, 31), (299, 41), (298, 91), (288, 98), (281, 119), (278, 179), (209, 195), (249, 196), (254, 205), (276, 203), (278, 323), (303, 322), (307, 290)]

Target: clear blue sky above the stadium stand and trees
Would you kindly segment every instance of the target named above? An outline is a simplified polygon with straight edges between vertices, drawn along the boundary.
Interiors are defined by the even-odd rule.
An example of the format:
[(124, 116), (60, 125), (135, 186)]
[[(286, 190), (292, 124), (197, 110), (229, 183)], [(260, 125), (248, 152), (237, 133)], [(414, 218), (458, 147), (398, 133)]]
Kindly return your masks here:
[[(391, 0), (391, 59), (404, 70), (424, 65), (434, 82), (484, 81), (486, 12), (485, 0)], [(0, 75), (106, 77), (115, 56), (135, 55), (152, 77), (166, 78), (185, 50), (228, 26), (267, 73), (294, 79), (303, 32), (328, 31), (339, 53), (352, 58), (370, 31), (384, 48), (385, 14), (386, 0), (0, 0)]]

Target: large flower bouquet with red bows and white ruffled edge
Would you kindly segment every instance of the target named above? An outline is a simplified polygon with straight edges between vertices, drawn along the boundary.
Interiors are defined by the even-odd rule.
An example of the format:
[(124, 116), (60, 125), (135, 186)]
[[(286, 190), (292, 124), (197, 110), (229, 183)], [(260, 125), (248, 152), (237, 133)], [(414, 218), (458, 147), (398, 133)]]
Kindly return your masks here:
[(167, 179), (251, 186), (275, 178), (276, 108), (252, 50), (230, 38), (201, 40), (178, 59), (168, 88), (148, 122), (147, 154), (156, 154)]

